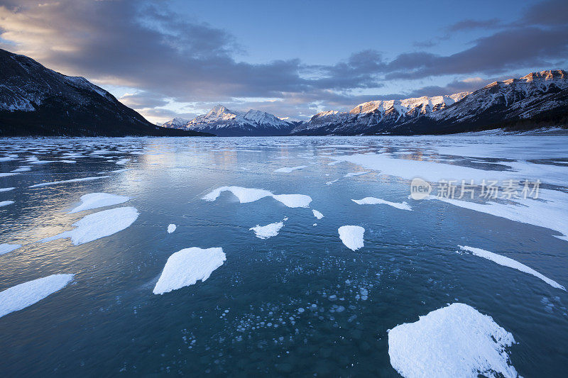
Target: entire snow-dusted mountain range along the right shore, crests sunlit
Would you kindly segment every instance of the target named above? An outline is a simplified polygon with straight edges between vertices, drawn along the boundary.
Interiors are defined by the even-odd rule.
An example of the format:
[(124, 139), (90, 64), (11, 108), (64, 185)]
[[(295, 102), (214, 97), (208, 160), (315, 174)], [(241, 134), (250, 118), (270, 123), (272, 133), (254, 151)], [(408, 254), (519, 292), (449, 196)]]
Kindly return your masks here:
[(567, 72), (548, 70), (493, 82), (473, 93), (369, 101), (348, 112), (324, 111), (296, 126), (292, 133), (408, 135), (567, 123)]

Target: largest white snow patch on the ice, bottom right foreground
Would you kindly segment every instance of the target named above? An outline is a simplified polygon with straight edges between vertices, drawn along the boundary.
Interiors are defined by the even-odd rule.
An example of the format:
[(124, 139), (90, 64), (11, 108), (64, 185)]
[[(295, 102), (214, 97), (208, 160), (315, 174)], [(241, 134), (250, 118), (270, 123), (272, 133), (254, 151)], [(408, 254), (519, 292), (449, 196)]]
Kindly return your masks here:
[(506, 348), (513, 335), (466, 304), (454, 303), (388, 332), (391, 365), (403, 377), (518, 377)]

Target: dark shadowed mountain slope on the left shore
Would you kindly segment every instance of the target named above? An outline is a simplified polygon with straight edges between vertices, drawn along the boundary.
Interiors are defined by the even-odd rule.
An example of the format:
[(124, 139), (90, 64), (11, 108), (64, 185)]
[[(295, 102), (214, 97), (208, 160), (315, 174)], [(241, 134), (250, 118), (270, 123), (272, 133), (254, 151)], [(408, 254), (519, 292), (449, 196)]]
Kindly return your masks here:
[(161, 128), (84, 77), (0, 49), (0, 136), (197, 135)]

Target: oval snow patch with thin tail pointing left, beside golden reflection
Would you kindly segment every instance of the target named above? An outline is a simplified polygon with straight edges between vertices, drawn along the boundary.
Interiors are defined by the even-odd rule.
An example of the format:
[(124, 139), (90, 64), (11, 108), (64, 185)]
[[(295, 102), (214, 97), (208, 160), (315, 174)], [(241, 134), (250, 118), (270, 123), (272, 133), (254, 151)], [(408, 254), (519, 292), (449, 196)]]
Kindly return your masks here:
[(65, 231), (41, 241), (48, 242), (55, 239), (71, 238), (74, 245), (80, 245), (128, 228), (136, 221), (138, 215), (138, 211), (133, 207), (118, 207), (99, 211), (84, 216), (80, 221), (73, 223), (73, 226), (76, 227), (74, 230)]

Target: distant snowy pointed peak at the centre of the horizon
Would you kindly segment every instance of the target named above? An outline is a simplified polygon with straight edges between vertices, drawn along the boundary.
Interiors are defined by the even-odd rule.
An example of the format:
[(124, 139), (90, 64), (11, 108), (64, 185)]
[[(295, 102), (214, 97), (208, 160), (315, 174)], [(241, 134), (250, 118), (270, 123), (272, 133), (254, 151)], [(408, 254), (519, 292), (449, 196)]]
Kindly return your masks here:
[(209, 113), (190, 121), (174, 118), (163, 126), (219, 136), (288, 135), (294, 127), (293, 123), (283, 121), (264, 111), (231, 111), (222, 105), (217, 105)]

